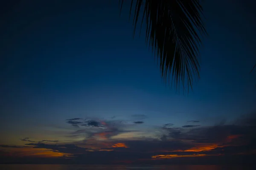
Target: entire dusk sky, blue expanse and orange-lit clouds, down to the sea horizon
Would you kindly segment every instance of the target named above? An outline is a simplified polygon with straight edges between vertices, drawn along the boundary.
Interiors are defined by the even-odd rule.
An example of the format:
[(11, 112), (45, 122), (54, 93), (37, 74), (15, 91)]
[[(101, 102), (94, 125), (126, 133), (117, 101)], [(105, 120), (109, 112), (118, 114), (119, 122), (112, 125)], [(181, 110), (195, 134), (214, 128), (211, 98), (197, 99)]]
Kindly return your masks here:
[(255, 160), (255, 2), (204, 1), (188, 95), (133, 38), (129, 3), (121, 15), (117, 0), (1, 3), (0, 163)]

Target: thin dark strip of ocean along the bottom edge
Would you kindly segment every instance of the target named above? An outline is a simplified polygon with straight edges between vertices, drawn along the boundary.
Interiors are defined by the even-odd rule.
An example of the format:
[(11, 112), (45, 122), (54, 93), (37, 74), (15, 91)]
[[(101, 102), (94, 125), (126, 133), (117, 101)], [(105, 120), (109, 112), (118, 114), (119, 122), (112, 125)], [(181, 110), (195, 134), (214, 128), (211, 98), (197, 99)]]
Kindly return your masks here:
[(53, 165), (0, 164), (0, 170), (255, 170), (250, 166), (223, 165)]

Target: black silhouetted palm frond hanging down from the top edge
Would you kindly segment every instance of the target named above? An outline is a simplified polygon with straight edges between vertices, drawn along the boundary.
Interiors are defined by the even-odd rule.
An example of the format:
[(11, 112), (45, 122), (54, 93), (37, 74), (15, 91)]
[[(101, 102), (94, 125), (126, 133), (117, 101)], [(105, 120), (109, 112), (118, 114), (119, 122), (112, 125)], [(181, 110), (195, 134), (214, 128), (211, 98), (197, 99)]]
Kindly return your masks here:
[[(119, 0), (122, 5), (125, 0)], [(145, 23), (146, 42), (152, 48), (163, 80), (180, 90), (192, 89), (194, 79), (199, 79), (198, 62), (201, 35), (206, 34), (201, 20), (200, 0), (131, 0), (134, 8), (134, 35), (138, 19)], [(120, 10), (120, 11), (121, 11)], [(172, 78), (172, 81), (170, 81)], [(174, 81), (173, 81), (174, 80)]]

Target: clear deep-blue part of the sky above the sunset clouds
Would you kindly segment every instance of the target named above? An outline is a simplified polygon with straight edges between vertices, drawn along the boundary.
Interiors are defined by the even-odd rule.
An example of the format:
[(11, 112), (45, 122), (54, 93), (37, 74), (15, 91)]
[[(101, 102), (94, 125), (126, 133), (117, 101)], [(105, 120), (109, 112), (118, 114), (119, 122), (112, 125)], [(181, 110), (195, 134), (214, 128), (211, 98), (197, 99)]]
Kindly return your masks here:
[(132, 38), (129, 4), (121, 16), (118, 3), (107, 0), (2, 6), (0, 143), (42, 138), (41, 127), (62, 127), (75, 117), (133, 121), (131, 115), (144, 114), (146, 129), (193, 119), (213, 125), (255, 111), (251, 3), (204, 2), (209, 36), (201, 50), (201, 79), (189, 96), (165, 86), (144, 36)]

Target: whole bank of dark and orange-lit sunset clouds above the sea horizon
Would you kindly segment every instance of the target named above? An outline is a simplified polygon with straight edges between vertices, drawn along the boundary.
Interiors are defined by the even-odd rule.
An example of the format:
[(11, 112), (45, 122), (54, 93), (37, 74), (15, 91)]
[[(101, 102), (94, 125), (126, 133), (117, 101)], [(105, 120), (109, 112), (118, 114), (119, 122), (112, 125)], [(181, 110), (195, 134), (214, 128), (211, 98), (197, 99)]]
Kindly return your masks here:
[[(26, 141), (26, 147), (35, 149), (35, 152), (43, 150), (46, 153), (55, 153), (55, 156), (59, 154), (59, 158), (65, 159), (64, 163), (72, 164), (204, 164), (218, 163), (220, 159), (225, 163), (225, 159), (239, 161), (249, 156), (246, 159), (251, 160), (250, 156), (256, 156), (256, 126), (253, 121), (249, 121), (251, 118), (253, 117), (239, 118), (233, 125), (219, 123), (208, 127), (173, 127), (173, 124), (169, 123), (161, 128), (152, 127), (152, 136), (147, 137), (143, 136), (145, 132), (140, 131), (140, 126), (131, 126), (122, 123), (122, 120), (75, 118), (67, 121), (82, 122), (79, 124), (81, 129), (69, 133), (73, 136), (70, 139), (84, 137), (84, 140), (69, 143), (47, 139), (39, 142), (31, 142), (29, 138), (21, 140)], [(138, 137), (134, 136), (136, 134)], [(3, 155), (8, 154), (9, 151), (6, 150), (19, 149), (11, 145), (0, 147), (5, 151)]]

